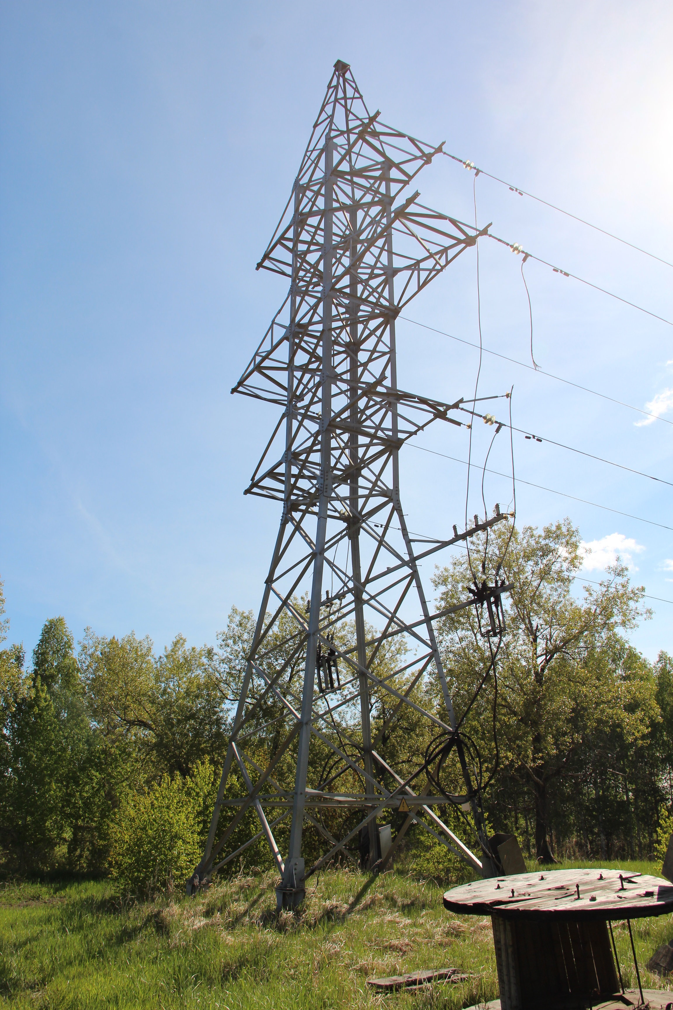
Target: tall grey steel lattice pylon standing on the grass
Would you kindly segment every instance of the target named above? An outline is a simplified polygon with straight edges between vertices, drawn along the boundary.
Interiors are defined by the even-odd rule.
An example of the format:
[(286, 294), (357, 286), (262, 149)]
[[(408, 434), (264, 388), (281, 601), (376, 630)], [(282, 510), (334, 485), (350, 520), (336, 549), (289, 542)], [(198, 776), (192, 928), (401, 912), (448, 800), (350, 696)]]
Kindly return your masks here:
[[(383, 733), (406, 706), (430, 720), (435, 731), (450, 734), (456, 725), (433, 629), (439, 615), (428, 607), (418, 561), (474, 529), (441, 542), (426, 541), (417, 552), (401, 504), (399, 452), (434, 419), (459, 424), (449, 411), (457, 411), (462, 401), (445, 404), (399, 389), (396, 319), (486, 229), (477, 232), (419, 203), (419, 193), (409, 192), (411, 184), (442, 145), (384, 126), (378, 116), (368, 112), (349, 66), (337, 62), (293, 194), (257, 265), (288, 277), (290, 290), (232, 390), (282, 411), (245, 493), (281, 502), (283, 514), (210, 833), (192, 886), (237, 854), (240, 847), (221, 857), (252, 806), (282, 876), (278, 904), (286, 907), (304, 897), (305, 822), (325, 838), (326, 851), (312, 871), (340, 849), (347, 851), (351, 839), (360, 851), (364, 844), (373, 865), (378, 855), (376, 817), (403, 802), (408, 806), (416, 795), (407, 785), (408, 771), (401, 775), (379, 752)], [(498, 513), (476, 528), (499, 518)], [(310, 608), (305, 608), (298, 594), (309, 582)], [(405, 620), (403, 609), (415, 610), (420, 619)], [(274, 664), (277, 647), (267, 647), (284, 615), (286, 621), (292, 617), (294, 631), (286, 651), (293, 662), (301, 660), (301, 685), (291, 683), (292, 663)], [(369, 639), (365, 618), (380, 628)], [(354, 623), (355, 642), (340, 648), (332, 634), (345, 620)], [(403, 691), (395, 687), (395, 676), (381, 680), (371, 669), (381, 645), (395, 635), (408, 636), (417, 648), (413, 662), (402, 668), (407, 678)], [(413, 700), (413, 688), (424, 677), (438, 679), (447, 722)], [(373, 738), (372, 686), (387, 696), (390, 706)], [(251, 733), (263, 740), (270, 732), (259, 726), (264, 699), (279, 704), (282, 714), (274, 720), (275, 752), (262, 767), (247, 749)], [(344, 713), (350, 713), (349, 719), (335, 732), (336, 718)], [(336, 771), (328, 782), (307, 781), (312, 744), (334, 755)], [(460, 741), (456, 749), (465, 782), (456, 799), (470, 805), (487, 852), (479, 798)], [(296, 758), (294, 792), (273, 778), (288, 753)], [(245, 792), (225, 799), (232, 766)], [(338, 788), (340, 771), (346, 770), (357, 776), (361, 792), (330, 790)], [(481, 870), (483, 862), (488, 875), (487, 857), (473, 855), (431, 811), (430, 804), (445, 798), (429, 792), (426, 787), (420, 794), (427, 794), (428, 805), (411, 802), (402, 833), (418, 820), (475, 868)], [(216, 843), (223, 806), (232, 808), (233, 816)], [(335, 806), (360, 811), (342, 838), (333, 837), (320, 821), (321, 809)], [(285, 860), (266, 817), (271, 809), (274, 816), (279, 812), (278, 819), (292, 812)]]

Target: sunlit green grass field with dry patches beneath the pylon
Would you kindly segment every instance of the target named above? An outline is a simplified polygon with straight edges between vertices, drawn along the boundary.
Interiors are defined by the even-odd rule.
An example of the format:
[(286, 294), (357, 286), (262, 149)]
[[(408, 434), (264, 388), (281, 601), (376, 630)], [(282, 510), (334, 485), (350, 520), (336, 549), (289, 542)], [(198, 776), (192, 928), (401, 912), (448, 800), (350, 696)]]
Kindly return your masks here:
[[(151, 903), (121, 900), (105, 882), (5, 885), (0, 999), (31, 1008), (458, 1010), (497, 995), (490, 920), (448, 914), (447, 885), (403, 871), (375, 879), (329, 871), (311, 880), (305, 907), (292, 915), (276, 913), (274, 884), (271, 874), (238, 877), (196, 898)], [(670, 918), (634, 923), (646, 988), (666, 988), (644, 966), (673, 936)], [(625, 985), (635, 986), (626, 926), (615, 939)], [(366, 986), (371, 977), (445, 967), (472, 978), (413, 994), (381, 996)]]

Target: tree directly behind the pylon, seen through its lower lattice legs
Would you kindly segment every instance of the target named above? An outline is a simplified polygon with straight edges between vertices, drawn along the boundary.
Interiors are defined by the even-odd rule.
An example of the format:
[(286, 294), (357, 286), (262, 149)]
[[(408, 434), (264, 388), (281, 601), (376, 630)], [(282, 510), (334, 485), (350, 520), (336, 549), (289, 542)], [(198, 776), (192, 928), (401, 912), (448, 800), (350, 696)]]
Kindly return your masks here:
[[(293, 604), (298, 612), (306, 612), (308, 599), (294, 600)], [(335, 612), (335, 623), (330, 629), (334, 634), (334, 642), (340, 652), (354, 652), (355, 650), (355, 625), (353, 621), (338, 621), (338, 611)], [(269, 627), (266, 618), (266, 628), (268, 633), (260, 645), (256, 654), (256, 661), (263, 666), (266, 676), (271, 678), (275, 673), (282, 672), (278, 680), (278, 688), (296, 709), (301, 708), (304, 669), (306, 663), (306, 639), (304, 632), (296, 619), (287, 610), (284, 611), (277, 621)], [(251, 611), (242, 611), (232, 607), (227, 628), (218, 634), (218, 671), (220, 691), (224, 703), (227, 705), (230, 719), (233, 717), (233, 710), (240, 695), (243, 678), (245, 675), (247, 656), (252, 646), (254, 634), (254, 615)], [(365, 626), (367, 639), (375, 636), (374, 629), (369, 625)], [(392, 677), (394, 671), (402, 663), (402, 656), (407, 651), (407, 643), (402, 636), (390, 637), (379, 648), (374, 655), (369, 651), (367, 654), (367, 665), (372, 673), (380, 679), (385, 679), (396, 690), (404, 693), (411, 681), (413, 674), (405, 674)], [(339, 670), (341, 683), (350, 680), (354, 676), (354, 671), (348, 667), (347, 663), (339, 660)], [(319, 690), (316, 681), (315, 692)], [(419, 686), (415, 689), (416, 695), (422, 691)], [(348, 689), (344, 689), (347, 693)], [(416, 697), (413, 695), (412, 697)], [(248, 702), (257, 703), (253, 708), (248, 706), (247, 718), (244, 727), (245, 741), (242, 744), (243, 760), (248, 764), (248, 770), (252, 781), (256, 781), (258, 771), (254, 768), (265, 768), (273, 760), (283, 744), (287, 734), (295, 723), (295, 716), (284, 706), (276, 695), (267, 689), (267, 684), (263, 678), (253, 676), (248, 690)], [(375, 736), (379, 729), (383, 729), (383, 722), (390, 714), (394, 704), (390, 704), (390, 696), (379, 688), (370, 691), (370, 714), (372, 736)], [(418, 720), (410, 717), (406, 707), (403, 709), (402, 718), (398, 719), (391, 728), (381, 733), (380, 742), (377, 748), (381, 755), (391, 761), (400, 768), (404, 768), (410, 760), (410, 753), (414, 748), (423, 747), (423, 737), (416, 732)], [(267, 728), (266, 728), (267, 727)], [(329, 718), (319, 725), (320, 733), (331, 739), (342, 754), (346, 754), (352, 765), (363, 769), (363, 750), (361, 746), (360, 733), (360, 710), (359, 700), (355, 695), (350, 704), (335, 704), (334, 710), (330, 712)], [(257, 729), (258, 733), (254, 733)], [(254, 763), (254, 764), (253, 764)], [(361, 772), (356, 771), (351, 764), (344, 761), (339, 754), (325, 742), (324, 739), (314, 736), (309, 752), (308, 783), (312, 789), (328, 789), (344, 792), (360, 792), (366, 783)], [(292, 792), (295, 788), (295, 772), (297, 766), (297, 740), (295, 739), (286, 752), (283, 754), (279, 764), (274, 768), (273, 779), (283, 789)], [(380, 773), (381, 775), (383, 773)], [(387, 778), (387, 774), (384, 775)], [(397, 783), (389, 782), (392, 789), (397, 788)], [(228, 785), (227, 798), (229, 796), (241, 795), (247, 792), (242, 783), (235, 765), (232, 767)], [(232, 815), (233, 816), (233, 815)], [(342, 836), (348, 829), (355, 826), (361, 815), (356, 810), (327, 809), (316, 813), (314, 820), (329, 834)], [(220, 820), (220, 830), (226, 827), (226, 813)], [(245, 831), (239, 831), (235, 838), (231, 839), (231, 847), (235, 847), (235, 842), (242, 835), (241, 840), (249, 837), (250, 834), (258, 830), (258, 825), (252, 830), (254, 818), (249, 818), (245, 824)], [(290, 825), (282, 823), (275, 833), (275, 838), (283, 848), (287, 842)], [(315, 825), (307, 827), (305, 833), (305, 854), (311, 858), (319, 854), (324, 847), (324, 837), (321, 838), (320, 828)], [(255, 850), (255, 861), (263, 864), (267, 854), (262, 854), (261, 850)]]

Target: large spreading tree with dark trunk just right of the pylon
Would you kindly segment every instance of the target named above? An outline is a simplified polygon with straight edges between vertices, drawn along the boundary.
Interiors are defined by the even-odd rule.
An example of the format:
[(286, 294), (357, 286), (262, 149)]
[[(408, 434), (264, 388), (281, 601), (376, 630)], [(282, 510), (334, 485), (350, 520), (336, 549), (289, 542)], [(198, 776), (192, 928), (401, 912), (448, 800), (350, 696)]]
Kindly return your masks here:
[[(507, 630), (496, 679), (490, 679), (470, 712), (466, 731), (491, 765), (496, 739), (503, 770), (526, 782), (533, 800), (535, 848), (543, 862), (553, 860), (550, 784), (575, 771), (583, 741), (597, 727), (619, 726), (633, 744), (647, 733), (648, 719), (656, 717), (648, 690), (640, 698), (639, 716), (632, 716), (633, 695), (642, 684), (629, 681), (606, 660), (619, 632), (648, 616), (639, 609), (644, 590), (630, 585), (628, 570), (618, 560), (599, 587), (584, 586), (578, 599), (572, 589), (582, 565), (580, 542), (568, 519), (542, 532), (499, 525), (475, 536), (466, 554), (435, 577), (442, 608), (464, 600), (468, 587), (484, 578), (492, 584), (497, 574), (513, 584), (504, 596)], [(439, 634), (460, 712), (487, 669), (489, 639), (480, 632), (474, 608), (443, 618)]]

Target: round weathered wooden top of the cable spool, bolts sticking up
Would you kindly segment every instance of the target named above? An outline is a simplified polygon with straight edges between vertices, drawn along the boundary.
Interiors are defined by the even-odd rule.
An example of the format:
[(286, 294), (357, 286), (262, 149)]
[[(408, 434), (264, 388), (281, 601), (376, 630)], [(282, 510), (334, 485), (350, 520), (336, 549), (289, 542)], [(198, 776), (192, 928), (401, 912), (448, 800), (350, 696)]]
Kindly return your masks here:
[[(459, 915), (588, 921), (673, 912), (673, 884), (619, 870), (540, 870), (453, 888), (444, 907)], [(578, 895), (579, 888), (579, 897)]]

